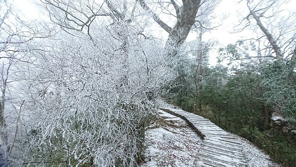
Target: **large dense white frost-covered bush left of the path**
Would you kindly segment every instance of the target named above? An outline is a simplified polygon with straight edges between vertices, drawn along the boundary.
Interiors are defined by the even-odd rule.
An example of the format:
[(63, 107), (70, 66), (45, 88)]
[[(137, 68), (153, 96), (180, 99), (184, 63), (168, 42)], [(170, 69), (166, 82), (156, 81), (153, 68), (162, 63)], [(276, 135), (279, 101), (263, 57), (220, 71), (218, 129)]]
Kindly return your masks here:
[(151, 100), (173, 79), (170, 64), (157, 42), (132, 30), (127, 59), (116, 50), (121, 42), (106, 29), (97, 32), (95, 43), (83, 33), (63, 33), (54, 50), (38, 58), (27, 103), (34, 121), (26, 164), (135, 164)]

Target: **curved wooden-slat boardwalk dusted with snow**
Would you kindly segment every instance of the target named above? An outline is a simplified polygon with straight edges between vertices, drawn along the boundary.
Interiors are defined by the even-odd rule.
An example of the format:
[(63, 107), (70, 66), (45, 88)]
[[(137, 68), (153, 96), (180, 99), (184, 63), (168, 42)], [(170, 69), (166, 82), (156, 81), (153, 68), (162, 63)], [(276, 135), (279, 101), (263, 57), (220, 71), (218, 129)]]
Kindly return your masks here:
[(163, 111), (184, 119), (204, 141), (195, 155), (193, 167), (246, 167), (242, 145), (228, 132), (208, 119), (180, 109), (161, 107)]

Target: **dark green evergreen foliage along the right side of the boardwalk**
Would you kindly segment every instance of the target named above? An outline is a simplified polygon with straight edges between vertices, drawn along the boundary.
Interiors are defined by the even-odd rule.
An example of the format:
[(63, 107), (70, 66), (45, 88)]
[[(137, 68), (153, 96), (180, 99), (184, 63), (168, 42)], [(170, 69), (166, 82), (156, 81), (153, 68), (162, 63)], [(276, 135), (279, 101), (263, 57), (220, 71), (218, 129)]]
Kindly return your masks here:
[[(254, 54), (252, 45), (245, 46), (243, 42), (237, 42), (219, 50), (221, 62), (230, 61), (227, 67), (218, 64), (205, 68), (199, 94), (188, 77), (192, 75), (191, 71), (185, 71), (182, 90), (175, 92), (179, 94), (172, 101), (184, 110), (202, 115), (227, 131), (248, 139), (268, 153), (272, 160), (292, 167), (296, 164), (296, 141), (281, 128), (271, 126), (271, 117), (276, 112), (283, 115), (288, 125), (295, 125), (295, 63), (243, 59)], [(196, 111), (195, 105), (201, 108)]]

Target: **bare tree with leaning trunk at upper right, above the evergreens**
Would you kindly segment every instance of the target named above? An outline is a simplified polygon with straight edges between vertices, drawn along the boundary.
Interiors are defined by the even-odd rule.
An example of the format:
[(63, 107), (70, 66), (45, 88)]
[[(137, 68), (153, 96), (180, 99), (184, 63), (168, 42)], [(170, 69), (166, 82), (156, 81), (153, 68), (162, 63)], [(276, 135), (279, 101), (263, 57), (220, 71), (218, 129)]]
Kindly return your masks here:
[(260, 42), (259, 52), (265, 51), (264, 55), (260, 54), (259, 57), (274, 57), (278, 60), (291, 55), (293, 57), (296, 45), (296, 11), (281, 8), (290, 0), (244, 0), (242, 2), (246, 2), (248, 14), (240, 21), (240, 26), (243, 27), (239, 31), (243, 31), (254, 23), (259, 27), (261, 33), (258, 33), (257, 38), (252, 39)]

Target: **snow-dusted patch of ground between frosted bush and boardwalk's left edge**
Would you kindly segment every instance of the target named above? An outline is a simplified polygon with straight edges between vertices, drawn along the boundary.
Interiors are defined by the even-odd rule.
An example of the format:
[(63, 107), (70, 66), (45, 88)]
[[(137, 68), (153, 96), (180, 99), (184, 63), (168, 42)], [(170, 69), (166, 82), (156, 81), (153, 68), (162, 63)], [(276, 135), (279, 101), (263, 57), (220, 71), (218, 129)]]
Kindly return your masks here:
[(192, 167), (201, 138), (181, 118), (158, 113), (160, 119), (152, 125), (159, 126), (145, 132), (145, 162), (141, 167)]

